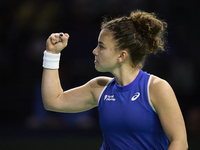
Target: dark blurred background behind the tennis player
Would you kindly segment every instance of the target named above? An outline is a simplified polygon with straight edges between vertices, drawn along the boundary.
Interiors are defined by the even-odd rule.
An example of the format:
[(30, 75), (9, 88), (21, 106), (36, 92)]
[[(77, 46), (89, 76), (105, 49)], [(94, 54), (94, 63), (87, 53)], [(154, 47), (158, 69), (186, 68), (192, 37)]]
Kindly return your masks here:
[(144, 71), (167, 80), (186, 122), (189, 149), (200, 148), (200, 21), (198, 1), (186, 0), (1, 0), (0, 149), (88, 150), (103, 141), (98, 109), (77, 114), (44, 110), (42, 57), (51, 33), (67, 32), (60, 78), (63, 89), (108, 75), (94, 69), (102, 16), (141, 9), (168, 23), (167, 52), (147, 58)]

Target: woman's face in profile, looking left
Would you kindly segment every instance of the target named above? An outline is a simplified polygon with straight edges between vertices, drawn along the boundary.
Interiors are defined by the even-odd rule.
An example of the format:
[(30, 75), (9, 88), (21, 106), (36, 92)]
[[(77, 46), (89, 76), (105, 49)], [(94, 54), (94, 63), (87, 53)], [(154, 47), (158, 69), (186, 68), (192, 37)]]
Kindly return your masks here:
[(108, 30), (101, 30), (98, 38), (98, 45), (93, 50), (95, 55), (95, 68), (99, 72), (113, 72), (117, 66), (119, 51), (116, 50), (112, 39), (112, 33)]

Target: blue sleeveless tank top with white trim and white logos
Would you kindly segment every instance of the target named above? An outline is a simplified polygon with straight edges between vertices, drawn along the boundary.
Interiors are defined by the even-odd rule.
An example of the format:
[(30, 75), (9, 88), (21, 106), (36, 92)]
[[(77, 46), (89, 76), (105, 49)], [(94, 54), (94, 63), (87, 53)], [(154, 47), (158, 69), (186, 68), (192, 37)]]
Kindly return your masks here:
[(168, 138), (150, 104), (151, 75), (140, 70), (136, 79), (119, 86), (112, 79), (99, 97), (100, 150), (166, 150)]

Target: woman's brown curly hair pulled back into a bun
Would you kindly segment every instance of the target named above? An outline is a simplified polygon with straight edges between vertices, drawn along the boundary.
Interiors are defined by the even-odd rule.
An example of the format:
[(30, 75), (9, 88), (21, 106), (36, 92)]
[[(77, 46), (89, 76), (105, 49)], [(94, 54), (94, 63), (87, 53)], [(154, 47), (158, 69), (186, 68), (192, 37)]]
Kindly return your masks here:
[(134, 66), (143, 67), (148, 53), (164, 51), (164, 33), (167, 23), (154, 13), (134, 11), (110, 21), (104, 20), (101, 29), (112, 32), (117, 49), (126, 49)]

